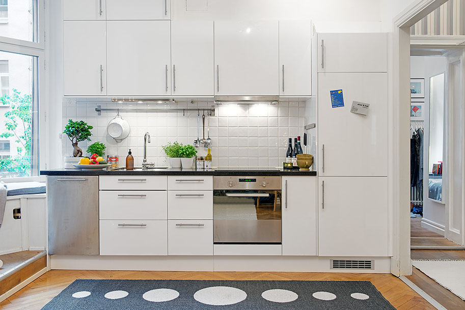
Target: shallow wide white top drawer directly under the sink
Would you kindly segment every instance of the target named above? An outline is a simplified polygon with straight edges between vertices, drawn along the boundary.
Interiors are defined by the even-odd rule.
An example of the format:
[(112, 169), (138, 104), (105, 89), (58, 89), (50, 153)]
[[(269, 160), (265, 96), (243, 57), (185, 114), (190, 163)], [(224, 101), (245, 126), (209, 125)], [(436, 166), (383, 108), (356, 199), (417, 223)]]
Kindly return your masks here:
[(99, 189), (166, 190), (166, 176), (100, 176)]

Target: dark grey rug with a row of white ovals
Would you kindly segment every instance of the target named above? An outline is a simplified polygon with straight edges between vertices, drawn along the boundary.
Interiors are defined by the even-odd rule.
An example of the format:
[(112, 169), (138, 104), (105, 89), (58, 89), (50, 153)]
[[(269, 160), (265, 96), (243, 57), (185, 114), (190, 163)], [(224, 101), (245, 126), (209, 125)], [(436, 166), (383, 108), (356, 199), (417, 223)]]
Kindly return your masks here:
[(75, 280), (42, 310), (395, 309), (368, 281)]

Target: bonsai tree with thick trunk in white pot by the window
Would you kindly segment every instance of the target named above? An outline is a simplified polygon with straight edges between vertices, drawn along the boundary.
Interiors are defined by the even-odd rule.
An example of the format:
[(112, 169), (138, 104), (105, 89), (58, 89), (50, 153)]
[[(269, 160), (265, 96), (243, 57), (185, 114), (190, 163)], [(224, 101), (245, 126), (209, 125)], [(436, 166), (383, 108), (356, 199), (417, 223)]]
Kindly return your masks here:
[(90, 141), (92, 135), (91, 129), (94, 127), (88, 125), (84, 121), (68, 120), (68, 124), (65, 126), (65, 131), (71, 144), (73, 146), (73, 156), (65, 156), (65, 168), (74, 168), (73, 164), (77, 164), (83, 156), (83, 150), (77, 146), (77, 144), (84, 140)]

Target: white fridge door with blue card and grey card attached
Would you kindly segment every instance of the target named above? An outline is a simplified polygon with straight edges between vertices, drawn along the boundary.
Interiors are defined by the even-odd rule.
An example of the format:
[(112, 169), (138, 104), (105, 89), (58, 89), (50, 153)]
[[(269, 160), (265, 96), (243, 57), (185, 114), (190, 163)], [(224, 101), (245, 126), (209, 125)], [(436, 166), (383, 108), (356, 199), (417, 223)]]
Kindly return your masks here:
[[(387, 176), (387, 73), (318, 74), (318, 173), (320, 176)], [(342, 90), (344, 106), (330, 92)], [(370, 104), (368, 115), (350, 112)]]

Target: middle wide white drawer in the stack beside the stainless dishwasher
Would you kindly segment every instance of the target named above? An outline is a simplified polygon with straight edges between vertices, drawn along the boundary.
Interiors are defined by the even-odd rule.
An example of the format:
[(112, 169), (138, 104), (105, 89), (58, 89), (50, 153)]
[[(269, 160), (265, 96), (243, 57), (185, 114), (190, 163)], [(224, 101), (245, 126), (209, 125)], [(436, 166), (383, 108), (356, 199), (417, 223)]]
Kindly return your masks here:
[(167, 219), (166, 190), (100, 190), (100, 219)]

